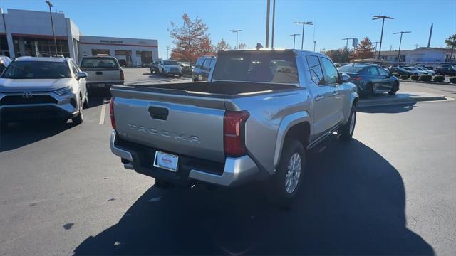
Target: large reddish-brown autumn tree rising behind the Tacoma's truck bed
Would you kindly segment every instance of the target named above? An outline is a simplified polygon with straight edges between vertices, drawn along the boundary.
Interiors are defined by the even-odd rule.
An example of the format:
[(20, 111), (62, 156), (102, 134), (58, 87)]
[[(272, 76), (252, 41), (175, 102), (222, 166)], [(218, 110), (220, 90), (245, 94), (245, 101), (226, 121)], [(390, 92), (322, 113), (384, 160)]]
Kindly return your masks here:
[(171, 22), (170, 34), (174, 44), (171, 58), (192, 63), (202, 55), (214, 54), (206, 23), (198, 17), (192, 20), (188, 14), (182, 15), (182, 21), (182, 26)]

